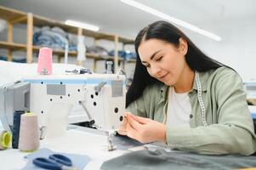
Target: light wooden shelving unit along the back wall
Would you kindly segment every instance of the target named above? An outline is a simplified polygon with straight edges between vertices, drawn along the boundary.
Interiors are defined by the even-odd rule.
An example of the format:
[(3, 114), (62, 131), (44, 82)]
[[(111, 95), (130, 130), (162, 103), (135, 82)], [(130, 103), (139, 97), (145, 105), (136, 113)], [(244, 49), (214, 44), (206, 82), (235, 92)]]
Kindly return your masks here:
[[(77, 36), (86, 36), (86, 37), (94, 37), (94, 44), (97, 44), (98, 40), (109, 40), (111, 42), (114, 42), (115, 47), (115, 56), (106, 56), (101, 57), (97, 54), (86, 54), (86, 57), (89, 59), (94, 59), (94, 70), (96, 69), (96, 62), (98, 60), (102, 59), (111, 59), (114, 61), (115, 65), (115, 71), (117, 71), (117, 68), (119, 67), (118, 62), (122, 61), (124, 62), (124, 59), (118, 57), (118, 46), (119, 42), (122, 42), (122, 47), (126, 44), (134, 44), (134, 40), (128, 39), (125, 37), (119, 37), (117, 34), (107, 34), (102, 32), (95, 32), (95, 31), (89, 31), (82, 28), (77, 28), (75, 26), (67, 26), (64, 23), (57, 21), (57, 20), (51, 20), (42, 16), (38, 16), (31, 13), (25, 13), (19, 10), (15, 10), (12, 8), (6, 8), (3, 6), (0, 6), (0, 18), (7, 21), (7, 27), (8, 27), (8, 38), (7, 42), (0, 41), (0, 48), (6, 48), (8, 49), (7, 58), (8, 60), (12, 60), (12, 53), (15, 50), (24, 50), (26, 51), (26, 60), (27, 63), (32, 62), (32, 54), (33, 52), (38, 52), (40, 46), (33, 46), (32, 44), (32, 37), (33, 37), (33, 27), (42, 27), (42, 26), (58, 26), (64, 31), (75, 34)], [(16, 43), (13, 42), (13, 27), (15, 24), (20, 23), (26, 25), (26, 43)], [(56, 54), (58, 56), (58, 61), (60, 62), (60, 59), (64, 56), (65, 52), (64, 50), (56, 50), (53, 49), (53, 54)], [(70, 51), (68, 52), (69, 56), (77, 56), (76, 51)], [(135, 60), (131, 60), (130, 62), (134, 62)], [(78, 61), (78, 65), (82, 65), (81, 61)]]

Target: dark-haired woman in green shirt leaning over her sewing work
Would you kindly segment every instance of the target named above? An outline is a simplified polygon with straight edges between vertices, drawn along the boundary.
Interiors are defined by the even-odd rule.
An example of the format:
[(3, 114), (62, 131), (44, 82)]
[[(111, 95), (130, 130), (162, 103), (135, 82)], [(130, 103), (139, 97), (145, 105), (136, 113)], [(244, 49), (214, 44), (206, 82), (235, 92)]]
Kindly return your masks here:
[(135, 50), (127, 93), (131, 114), (119, 133), (201, 154), (255, 152), (253, 120), (236, 71), (210, 59), (165, 21), (139, 31)]

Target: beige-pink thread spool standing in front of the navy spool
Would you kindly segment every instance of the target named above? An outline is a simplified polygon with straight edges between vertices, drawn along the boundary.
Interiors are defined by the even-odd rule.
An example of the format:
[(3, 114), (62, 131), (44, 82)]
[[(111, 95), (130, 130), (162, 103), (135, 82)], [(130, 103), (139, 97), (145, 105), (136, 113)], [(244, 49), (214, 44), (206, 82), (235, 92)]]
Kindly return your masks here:
[(39, 129), (37, 115), (31, 112), (25, 113), (20, 119), (20, 151), (31, 152), (39, 147)]

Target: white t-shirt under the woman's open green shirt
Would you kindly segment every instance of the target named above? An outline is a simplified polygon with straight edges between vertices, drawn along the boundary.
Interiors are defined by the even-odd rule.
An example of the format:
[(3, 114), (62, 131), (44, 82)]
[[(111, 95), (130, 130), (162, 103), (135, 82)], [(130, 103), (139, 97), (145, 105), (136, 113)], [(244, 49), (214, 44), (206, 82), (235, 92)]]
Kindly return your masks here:
[(168, 127), (190, 127), (191, 101), (188, 93), (177, 94), (173, 87), (168, 94)]

